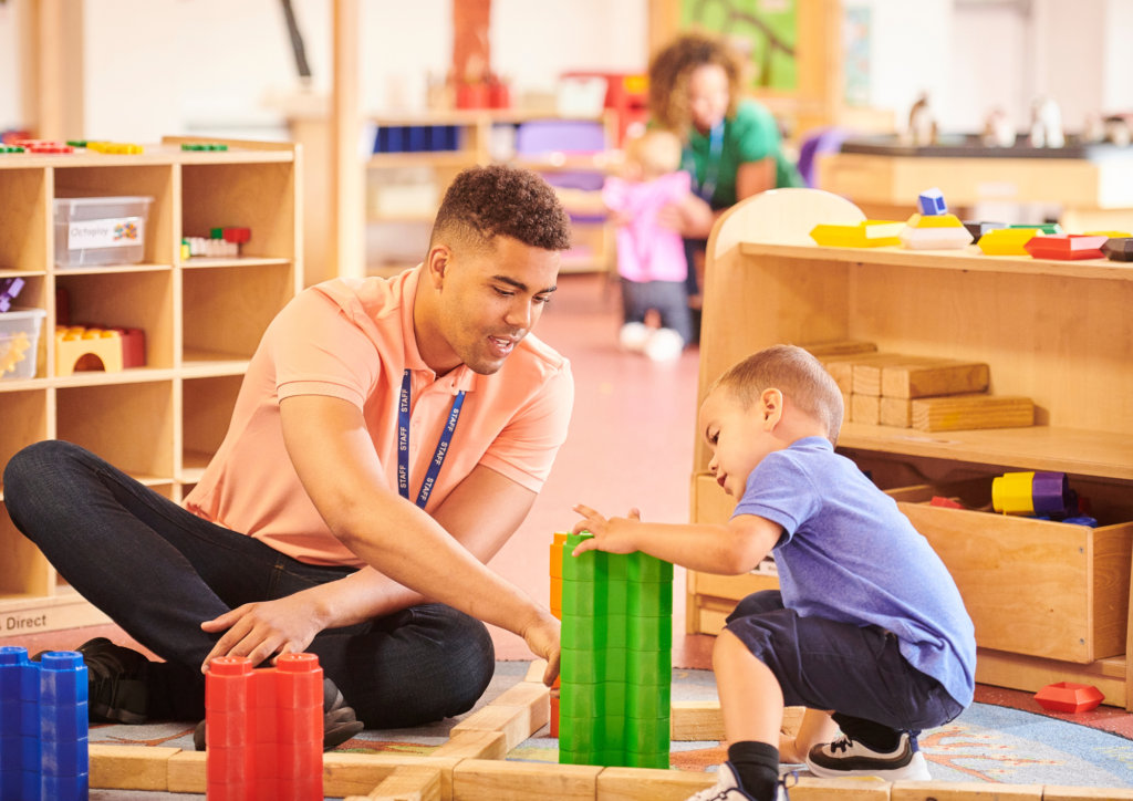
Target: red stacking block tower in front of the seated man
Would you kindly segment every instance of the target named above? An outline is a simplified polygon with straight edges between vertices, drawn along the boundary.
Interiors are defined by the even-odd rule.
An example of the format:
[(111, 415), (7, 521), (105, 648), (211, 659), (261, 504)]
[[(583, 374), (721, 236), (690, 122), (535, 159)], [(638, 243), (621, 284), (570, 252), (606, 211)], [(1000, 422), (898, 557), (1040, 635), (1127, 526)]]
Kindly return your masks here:
[(314, 654), (283, 654), (253, 670), (220, 657), (205, 679), (208, 801), (323, 798), (323, 668)]

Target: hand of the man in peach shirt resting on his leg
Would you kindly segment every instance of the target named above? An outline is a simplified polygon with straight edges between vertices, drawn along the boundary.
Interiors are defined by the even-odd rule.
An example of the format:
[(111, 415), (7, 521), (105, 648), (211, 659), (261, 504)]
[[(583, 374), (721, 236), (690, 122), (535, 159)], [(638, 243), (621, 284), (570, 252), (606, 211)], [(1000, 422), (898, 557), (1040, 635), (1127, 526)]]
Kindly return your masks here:
[(279, 654), (301, 654), (306, 650), (324, 627), (313, 612), (309, 599), (303, 598), (303, 595), (245, 604), (202, 623), (201, 628), (210, 634), (228, 631), (205, 657), (201, 672), (204, 673), (208, 663), (218, 656), (246, 656), (256, 666)]

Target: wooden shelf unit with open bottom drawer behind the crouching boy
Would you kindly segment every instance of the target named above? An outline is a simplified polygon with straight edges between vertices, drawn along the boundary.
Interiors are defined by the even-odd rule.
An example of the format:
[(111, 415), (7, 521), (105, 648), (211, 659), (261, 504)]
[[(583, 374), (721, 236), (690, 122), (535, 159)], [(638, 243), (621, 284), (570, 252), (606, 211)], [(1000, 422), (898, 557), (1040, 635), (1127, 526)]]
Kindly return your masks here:
[[(725, 230), (733, 216), (736, 230)], [(956, 580), (976, 623), (977, 681), (1032, 692), (1093, 684), (1106, 704), (1133, 708), (1133, 269), (971, 248), (755, 242), (744, 219), (730, 212), (708, 246), (700, 397), (732, 364), (777, 343), (819, 351), (864, 341), (986, 363), (993, 395), (1033, 399), (1033, 426), (929, 433), (849, 421), (838, 450), (895, 497)], [(717, 238), (738, 244), (715, 253)], [(692, 519), (723, 522), (735, 501), (709, 459), (698, 436)], [(956, 495), (979, 508), (993, 477), (1012, 470), (1067, 474), (1099, 527), (929, 505)], [(718, 633), (747, 594), (777, 588), (757, 573), (690, 571), (688, 582), (687, 628), (704, 633)]]

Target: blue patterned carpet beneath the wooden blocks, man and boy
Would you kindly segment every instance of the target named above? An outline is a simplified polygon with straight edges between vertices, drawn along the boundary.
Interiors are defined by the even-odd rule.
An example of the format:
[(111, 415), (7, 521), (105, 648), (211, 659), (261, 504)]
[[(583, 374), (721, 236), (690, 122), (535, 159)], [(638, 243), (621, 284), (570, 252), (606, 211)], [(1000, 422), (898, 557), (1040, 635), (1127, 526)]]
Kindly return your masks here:
[[(522, 681), (527, 666), (525, 662), (496, 663), (496, 675), (476, 709)], [(712, 672), (673, 672), (673, 700), (715, 698), (716, 684)], [(1025, 708), (1028, 704), (1033, 710)], [(1020, 706), (1024, 708), (1014, 708)], [(465, 717), (467, 715), (418, 728), (365, 731), (339, 750), (426, 756), (446, 742), (449, 730)], [(1133, 787), (1133, 741), (1127, 732), (1130, 717), (1124, 711), (1109, 708), (1083, 715), (1049, 714), (1034, 705), (1028, 693), (980, 688), (977, 702), (963, 715), (947, 726), (925, 732), (920, 742), (932, 778), (939, 781)], [(91, 742), (191, 750), (193, 726), (185, 723), (95, 726), (91, 730)], [(555, 762), (557, 748), (557, 741), (544, 728), (508, 758)], [(671, 764), (681, 770), (713, 770), (724, 758), (724, 748), (718, 742), (681, 742), (673, 743)], [(800, 772), (800, 775), (806, 775), (806, 772)], [(169, 796), (94, 791), (91, 798), (140, 801)]]

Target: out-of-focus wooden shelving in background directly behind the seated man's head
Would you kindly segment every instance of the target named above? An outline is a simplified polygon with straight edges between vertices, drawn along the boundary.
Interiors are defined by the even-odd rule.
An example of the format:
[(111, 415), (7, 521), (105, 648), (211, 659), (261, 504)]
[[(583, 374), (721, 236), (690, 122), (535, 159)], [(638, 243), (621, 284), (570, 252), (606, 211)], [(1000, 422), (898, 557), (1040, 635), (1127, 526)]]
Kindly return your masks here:
[[(455, 126), (458, 130), (458, 150), (420, 153), (375, 153), (366, 163), (367, 181), (389, 180), (398, 171), (407, 169), (428, 169), (433, 172), (433, 185), (436, 202), (440, 204), (445, 190), (457, 174), (476, 164), (491, 164), (492, 128), (496, 125), (519, 125), (531, 120), (557, 119), (545, 112), (492, 110), (492, 111), (448, 111), (427, 114), (403, 114), (372, 118), (377, 127), (389, 126)], [(574, 118), (572, 118), (574, 119)], [(606, 129), (606, 142), (616, 140), (617, 120), (614, 112), (606, 112), (599, 118), (588, 121), (600, 121)], [(513, 157), (509, 163), (526, 167), (537, 172), (594, 171), (605, 172), (615, 154), (603, 152), (596, 155), (570, 155), (562, 159)], [(378, 190), (380, 190), (378, 186)], [(367, 199), (367, 220), (372, 223), (432, 223), (436, 208), (428, 212), (412, 211), (398, 214), (377, 214), (369, 210)], [(568, 207), (568, 211), (570, 208)], [(577, 223), (574, 227), (576, 245), (582, 246), (578, 255), (565, 255), (560, 272), (606, 272), (615, 264), (614, 237), (611, 225), (600, 223)], [(412, 266), (412, 265), (410, 265)], [(372, 270), (372, 275), (387, 276), (400, 272), (387, 266)]]

